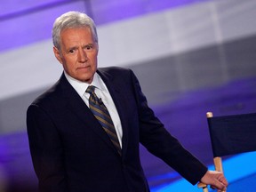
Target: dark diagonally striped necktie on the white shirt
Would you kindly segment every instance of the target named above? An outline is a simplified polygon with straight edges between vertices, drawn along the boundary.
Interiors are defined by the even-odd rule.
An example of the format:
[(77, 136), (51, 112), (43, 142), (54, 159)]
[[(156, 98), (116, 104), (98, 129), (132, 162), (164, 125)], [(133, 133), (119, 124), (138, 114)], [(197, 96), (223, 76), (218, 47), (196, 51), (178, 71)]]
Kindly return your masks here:
[(98, 121), (100, 122), (100, 124), (103, 127), (103, 129), (105, 130), (105, 132), (108, 133), (110, 140), (112, 141), (112, 143), (114, 144), (114, 146), (117, 149), (117, 152), (121, 156), (121, 147), (120, 147), (117, 135), (116, 135), (115, 126), (112, 122), (112, 119), (111, 119), (109, 113), (108, 113), (108, 109), (106, 108), (106, 106), (104, 105), (102, 100), (100, 100), (97, 97), (94, 90), (95, 90), (95, 86), (90, 85), (90, 86), (88, 86), (88, 88), (85, 91), (85, 92), (90, 93), (89, 108), (91, 109), (93, 115), (98, 119)]

